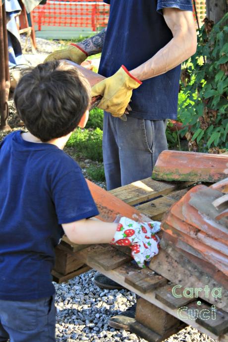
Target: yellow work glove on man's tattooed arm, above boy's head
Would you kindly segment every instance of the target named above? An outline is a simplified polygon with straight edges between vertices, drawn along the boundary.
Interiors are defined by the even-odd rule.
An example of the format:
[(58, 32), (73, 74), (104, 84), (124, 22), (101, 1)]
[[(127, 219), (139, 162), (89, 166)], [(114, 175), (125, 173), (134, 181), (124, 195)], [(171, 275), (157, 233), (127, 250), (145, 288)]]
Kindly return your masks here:
[(82, 48), (71, 43), (65, 49), (54, 51), (45, 59), (44, 63), (51, 60), (68, 59), (77, 64), (81, 64), (87, 57), (88, 54)]

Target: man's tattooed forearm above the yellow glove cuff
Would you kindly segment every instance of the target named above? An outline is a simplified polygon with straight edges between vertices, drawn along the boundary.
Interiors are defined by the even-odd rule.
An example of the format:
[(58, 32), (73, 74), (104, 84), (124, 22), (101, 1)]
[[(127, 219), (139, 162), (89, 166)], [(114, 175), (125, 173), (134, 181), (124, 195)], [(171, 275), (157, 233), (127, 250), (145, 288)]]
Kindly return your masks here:
[(90, 37), (88, 39), (85, 39), (84, 41), (78, 43), (77, 45), (82, 48), (88, 56), (98, 54), (102, 52), (102, 48), (105, 41), (106, 36), (106, 30), (107, 28), (104, 28), (101, 32), (99, 32), (97, 35)]

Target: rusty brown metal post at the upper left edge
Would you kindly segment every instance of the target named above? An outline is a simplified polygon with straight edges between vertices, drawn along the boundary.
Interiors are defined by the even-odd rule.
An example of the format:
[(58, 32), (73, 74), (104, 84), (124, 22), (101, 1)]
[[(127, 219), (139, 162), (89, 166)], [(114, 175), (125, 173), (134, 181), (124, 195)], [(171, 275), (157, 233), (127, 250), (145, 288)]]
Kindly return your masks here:
[(0, 130), (9, 130), (8, 96), (10, 88), (8, 67), (8, 39), (6, 30), (5, 6), (0, 0)]

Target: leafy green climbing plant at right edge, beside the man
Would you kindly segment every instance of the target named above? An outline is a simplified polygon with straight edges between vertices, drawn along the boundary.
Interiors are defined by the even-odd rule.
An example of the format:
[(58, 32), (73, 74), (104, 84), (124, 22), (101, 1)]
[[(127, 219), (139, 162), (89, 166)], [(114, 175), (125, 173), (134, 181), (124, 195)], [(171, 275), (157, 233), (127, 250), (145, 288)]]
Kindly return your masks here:
[[(182, 74), (179, 105), (188, 140), (197, 150), (228, 149), (228, 13), (216, 25), (207, 20), (199, 30), (198, 48)], [(212, 27), (213, 26), (213, 27)], [(212, 27), (212, 29), (211, 29)], [(186, 134), (187, 128), (181, 131)]]

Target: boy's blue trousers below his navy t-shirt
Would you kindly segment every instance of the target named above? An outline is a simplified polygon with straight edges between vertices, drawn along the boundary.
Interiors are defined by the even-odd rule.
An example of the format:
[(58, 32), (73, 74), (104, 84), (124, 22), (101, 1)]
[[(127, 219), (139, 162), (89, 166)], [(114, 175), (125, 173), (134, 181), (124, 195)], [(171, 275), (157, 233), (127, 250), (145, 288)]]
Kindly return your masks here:
[(55, 296), (30, 300), (0, 300), (0, 342), (55, 342)]

